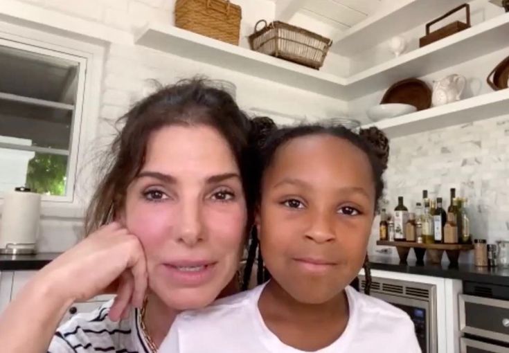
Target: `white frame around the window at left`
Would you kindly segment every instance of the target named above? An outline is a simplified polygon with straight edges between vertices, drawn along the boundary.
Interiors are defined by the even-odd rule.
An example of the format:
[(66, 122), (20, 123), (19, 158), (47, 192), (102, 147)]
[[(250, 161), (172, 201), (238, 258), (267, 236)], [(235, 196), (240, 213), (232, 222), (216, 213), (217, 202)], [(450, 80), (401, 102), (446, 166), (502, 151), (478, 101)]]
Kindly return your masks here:
[[(102, 91), (105, 47), (0, 21), (0, 45), (6, 45), (6, 43), (12, 48), (60, 57), (80, 64), (69, 145), (70, 153), (67, 161), (66, 194), (65, 196), (43, 195), (42, 216), (81, 218), (89, 195), (86, 195), (84, 199), (77, 197), (76, 179), (80, 177), (82, 170), (85, 173), (91, 173), (91, 170), (87, 170), (85, 163), (87, 159), (90, 160), (89, 152), (91, 151), (87, 147), (93, 144), (97, 136), (100, 109), (100, 94), (97, 93)], [(85, 180), (90, 179), (89, 175), (84, 177)], [(2, 203), (3, 194), (0, 192), (0, 206)]]

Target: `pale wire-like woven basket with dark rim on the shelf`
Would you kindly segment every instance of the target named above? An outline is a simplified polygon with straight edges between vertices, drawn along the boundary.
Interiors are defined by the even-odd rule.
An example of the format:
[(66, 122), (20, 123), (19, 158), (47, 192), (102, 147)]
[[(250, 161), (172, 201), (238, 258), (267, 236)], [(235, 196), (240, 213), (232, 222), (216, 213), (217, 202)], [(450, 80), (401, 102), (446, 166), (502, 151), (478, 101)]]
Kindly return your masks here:
[[(264, 24), (264, 27), (258, 30), (260, 24)], [(256, 23), (255, 32), (249, 36), (249, 45), (253, 51), (320, 69), (332, 41), (280, 21), (267, 25), (267, 21), (262, 19)]]

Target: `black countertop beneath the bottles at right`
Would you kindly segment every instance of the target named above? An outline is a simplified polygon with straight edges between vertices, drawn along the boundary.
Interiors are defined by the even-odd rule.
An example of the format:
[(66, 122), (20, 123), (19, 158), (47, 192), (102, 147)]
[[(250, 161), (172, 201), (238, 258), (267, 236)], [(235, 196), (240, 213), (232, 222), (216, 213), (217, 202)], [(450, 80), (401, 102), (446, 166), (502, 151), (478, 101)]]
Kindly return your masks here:
[(413, 275), (430, 275), (432, 277), (509, 286), (509, 269), (502, 269), (500, 267), (489, 269), (488, 267), (476, 267), (474, 264), (458, 264), (458, 266), (454, 267), (449, 266), (448, 263), (416, 264), (416, 262), (412, 261), (409, 261), (407, 264), (400, 264), (400, 260), (397, 258), (377, 256), (370, 256), (369, 262), (371, 269), (374, 270), (411, 273)]

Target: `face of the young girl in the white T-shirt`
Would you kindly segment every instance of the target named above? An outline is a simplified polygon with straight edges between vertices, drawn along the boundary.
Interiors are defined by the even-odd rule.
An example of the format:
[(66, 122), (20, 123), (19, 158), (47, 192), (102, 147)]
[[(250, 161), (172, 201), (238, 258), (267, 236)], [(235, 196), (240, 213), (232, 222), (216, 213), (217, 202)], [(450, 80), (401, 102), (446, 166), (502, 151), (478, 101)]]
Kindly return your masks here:
[(265, 266), (299, 302), (333, 299), (364, 263), (374, 208), (364, 152), (326, 134), (292, 139), (262, 182), (257, 226)]

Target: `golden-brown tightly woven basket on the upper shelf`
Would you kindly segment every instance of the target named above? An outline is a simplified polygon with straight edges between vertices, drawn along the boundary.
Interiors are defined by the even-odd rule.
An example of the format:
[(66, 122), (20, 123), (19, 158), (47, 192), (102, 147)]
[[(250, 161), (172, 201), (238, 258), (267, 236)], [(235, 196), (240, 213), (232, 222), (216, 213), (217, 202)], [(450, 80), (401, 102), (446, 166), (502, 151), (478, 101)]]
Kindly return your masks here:
[(238, 45), (242, 9), (228, 0), (177, 0), (175, 26)]

